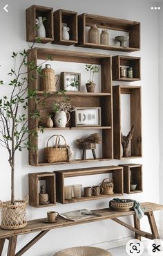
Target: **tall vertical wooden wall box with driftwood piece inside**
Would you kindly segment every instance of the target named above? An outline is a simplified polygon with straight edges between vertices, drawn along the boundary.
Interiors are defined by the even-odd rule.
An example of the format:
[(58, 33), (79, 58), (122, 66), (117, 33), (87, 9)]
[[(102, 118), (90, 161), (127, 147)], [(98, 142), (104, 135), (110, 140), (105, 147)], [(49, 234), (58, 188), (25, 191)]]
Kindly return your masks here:
[[(135, 126), (131, 139), (131, 155), (123, 157), (122, 153), (122, 121), (121, 121), (121, 94), (130, 95), (131, 126)], [(113, 142), (114, 158), (126, 159), (142, 157), (142, 106), (140, 86), (113, 86)], [(128, 130), (129, 132), (129, 130)]]

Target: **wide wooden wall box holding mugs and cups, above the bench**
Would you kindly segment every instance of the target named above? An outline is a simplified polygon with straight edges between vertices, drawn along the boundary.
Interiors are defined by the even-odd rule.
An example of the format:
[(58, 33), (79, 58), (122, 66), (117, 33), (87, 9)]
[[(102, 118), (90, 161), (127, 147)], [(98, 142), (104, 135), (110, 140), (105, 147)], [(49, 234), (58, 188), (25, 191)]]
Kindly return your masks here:
[[(81, 198), (73, 198), (71, 200), (66, 200), (64, 196), (64, 185), (65, 178), (69, 177), (81, 177), (81, 176), (91, 176), (91, 175), (99, 175), (102, 173), (112, 173), (113, 183), (114, 183), (114, 194), (100, 194), (99, 196), (91, 196), (86, 197), (82, 196)], [(57, 189), (57, 202), (59, 203), (75, 203), (86, 200), (95, 200), (101, 198), (108, 198), (114, 196), (122, 196), (123, 195), (123, 168), (122, 167), (93, 167), (86, 169), (73, 169), (73, 170), (65, 170), (65, 171), (55, 171), (56, 175), (56, 189)], [(89, 177), (88, 177), (89, 179)], [(91, 177), (90, 177), (91, 179)], [(79, 179), (78, 179), (79, 183)]]

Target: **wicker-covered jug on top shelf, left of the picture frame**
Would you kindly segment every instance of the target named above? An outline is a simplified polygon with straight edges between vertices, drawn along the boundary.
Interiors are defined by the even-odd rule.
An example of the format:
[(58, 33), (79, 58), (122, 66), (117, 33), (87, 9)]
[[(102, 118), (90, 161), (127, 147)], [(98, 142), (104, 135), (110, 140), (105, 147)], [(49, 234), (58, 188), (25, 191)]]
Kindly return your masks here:
[(46, 64), (46, 67), (41, 71), (41, 90), (46, 92), (56, 92), (58, 82), (59, 75), (55, 74), (55, 70), (51, 68), (50, 64)]

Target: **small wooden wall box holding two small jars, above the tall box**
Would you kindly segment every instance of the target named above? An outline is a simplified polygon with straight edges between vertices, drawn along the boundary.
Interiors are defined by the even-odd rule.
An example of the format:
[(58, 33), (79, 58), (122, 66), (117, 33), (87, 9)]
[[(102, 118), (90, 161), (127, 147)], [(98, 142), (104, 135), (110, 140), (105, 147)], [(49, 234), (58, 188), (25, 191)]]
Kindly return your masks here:
[[(133, 78), (122, 78), (120, 76), (120, 67), (132, 67), (133, 68)], [(112, 74), (113, 80), (117, 81), (137, 81), (141, 80), (140, 76), (140, 57), (131, 56), (113, 56), (112, 57)]]

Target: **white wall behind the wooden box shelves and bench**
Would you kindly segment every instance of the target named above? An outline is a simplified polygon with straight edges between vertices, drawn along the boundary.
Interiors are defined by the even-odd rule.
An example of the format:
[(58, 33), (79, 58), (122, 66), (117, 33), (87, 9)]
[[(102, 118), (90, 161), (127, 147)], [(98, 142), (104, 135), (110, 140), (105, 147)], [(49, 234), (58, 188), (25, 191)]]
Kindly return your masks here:
[[(25, 10), (32, 4), (41, 6), (50, 6), (54, 10), (59, 8), (66, 10), (76, 10), (78, 14), (83, 12), (104, 15), (108, 17), (118, 17), (122, 19), (131, 19), (142, 24), (141, 32), (141, 51), (128, 53), (131, 56), (140, 56), (142, 58), (142, 80), (132, 85), (142, 85), (142, 137), (143, 137), (143, 158), (128, 161), (110, 161), (91, 164), (64, 164), (52, 167), (30, 167), (28, 165), (28, 152), (24, 150), (17, 154), (16, 162), (16, 195), (17, 198), (28, 194), (28, 173), (38, 171), (54, 171), (59, 169), (75, 169), (79, 167), (93, 167), (121, 164), (126, 162), (143, 164), (143, 185), (144, 192), (135, 194), (133, 199), (151, 201), (159, 203), (159, 143), (158, 143), (158, 21), (157, 12), (151, 11), (151, 3), (148, 0), (10, 0), (9, 12), (6, 13), (1, 7), (6, 5), (6, 1), (1, 1), (1, 40), (0, 40), (0, 78), (8, 81), (6, 74), (12, 67), (10, 58), (12, 51), (21, 51), (28, 48), (26, 42), (26, 17)], [(50, 49), (70, 49), (73, 51), (91, 51), (95, 53), (105, 53), (111, 55), (124, 54), (115, 51), (100, 51), (97, 49), (81, 49), (74, 46), (57, 46), (54, 44), (39, 44), (38, 46)], [(120, 83), (126, 84), (126, 83)], [(114, 83), (118, 85), (118, 83)], [(5, 94), (8, 89), (0, 89), (0, 94)], [(8, 157), (3, 148), (0, 148), (1, 155), (1, 178), (0, 178), (0, 198), (8, 200), (10, 198), (10, 167)], [(124, 198), (131, 196), (124, 195)], [(67, 212), (77, 210), (83, 207), (96, 209), (108, 207), (108, 199), (93, 200), (84, 203), (73, 203), (68, 205), (58, 204), (55, 207), (37, 209), (28, 207), (28, 219), (44, 218), (46, 211), (56, 210), (57, 212)], [(159, 214), (156, 214), (156, 221), (159, 222)], [(144, 217), (145, 218), (145, 217)], [(128, 218), (131, 223), (131, 219)], [(142, 221), (142, 228), (146, 227), (146, 220)], [(47, 255), (47, 253), (61, 250), (70, 246), (90, 245), (110, 241), (113, 239), (122, 239), (128, 237), (131, 232), (120, 227), (112, 221), (100, 221), (69, 228), (52, 230), (46, 237), (41, 239), (35, 247), (28, 250), (25, 255)], [(19, 238), (18, 248), (34, 237), (34, 234), (23, 235)], [(6, 255), (6, 251), (3, 253)]]

